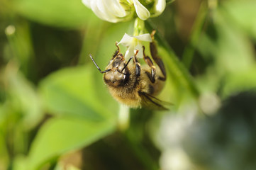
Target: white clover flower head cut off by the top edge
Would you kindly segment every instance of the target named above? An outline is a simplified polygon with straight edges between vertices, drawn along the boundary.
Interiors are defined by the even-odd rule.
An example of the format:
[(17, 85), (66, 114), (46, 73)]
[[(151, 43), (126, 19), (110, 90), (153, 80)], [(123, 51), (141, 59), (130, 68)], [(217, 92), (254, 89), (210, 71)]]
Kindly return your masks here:
[[(137, 13), (145, 21), (150, 16), (159, 16), (165, 10), (165, 0), (82, 0), (83, 4), (102, 20), (117, 23), (128, 21)], [(149, 8), (147, 8), (150, 6)]]

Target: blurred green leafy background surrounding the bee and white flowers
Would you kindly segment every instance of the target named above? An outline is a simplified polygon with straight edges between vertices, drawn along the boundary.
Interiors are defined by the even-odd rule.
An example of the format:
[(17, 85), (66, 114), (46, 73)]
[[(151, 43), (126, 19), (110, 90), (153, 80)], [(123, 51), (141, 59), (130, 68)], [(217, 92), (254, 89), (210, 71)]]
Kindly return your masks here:
[(133, 21), (80, 0), (0, 0), (0, 169), (256, 169), (255, 8), (177, 0), (147, 21), (173, 105), (131, 109), (121, 131), (89, 54), (106, 67)]

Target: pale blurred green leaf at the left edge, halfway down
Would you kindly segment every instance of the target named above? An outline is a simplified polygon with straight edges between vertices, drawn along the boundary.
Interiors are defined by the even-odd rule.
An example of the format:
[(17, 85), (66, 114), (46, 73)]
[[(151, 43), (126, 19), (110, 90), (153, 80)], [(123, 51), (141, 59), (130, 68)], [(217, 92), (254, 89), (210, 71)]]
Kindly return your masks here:
[[(21, 72), (18, 72), (18, 66), (13, 62), (6, 67), (2, 78), (3, 83), (8, 84), (5, 88), (4, 112), (1, 114), (6, 116), (4, 119), (7, 120), (7, 117), (14, 116), (21, 121), (21, 125), (26, 130), (38, 125), (43, 114), (41, 103), (33, 84)], [(19, 118), (18, 115), (20, 113), (22, 116)], [(18, 125), (18, 122), (15, 125)]]

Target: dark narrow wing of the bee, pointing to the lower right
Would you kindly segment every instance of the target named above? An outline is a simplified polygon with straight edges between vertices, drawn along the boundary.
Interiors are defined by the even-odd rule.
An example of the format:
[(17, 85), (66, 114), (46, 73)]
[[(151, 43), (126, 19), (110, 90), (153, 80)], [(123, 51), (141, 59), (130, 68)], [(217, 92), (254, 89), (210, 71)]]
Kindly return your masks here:
[(168, 103), (166, 101), (161, 101), (158, 98), (155, 98), (154, 96), (151, 96), (150, 94), (147, 94), (145, 92), (140, 92), (140, 97), (142, 98), (142, 105), (145, 108), (150, 108), (153, 110), (160, 110), (160, 111), (167, 111), (169, 109), (162, 106), (162, 104), (165, 105), (172, 105), (172, 103)]

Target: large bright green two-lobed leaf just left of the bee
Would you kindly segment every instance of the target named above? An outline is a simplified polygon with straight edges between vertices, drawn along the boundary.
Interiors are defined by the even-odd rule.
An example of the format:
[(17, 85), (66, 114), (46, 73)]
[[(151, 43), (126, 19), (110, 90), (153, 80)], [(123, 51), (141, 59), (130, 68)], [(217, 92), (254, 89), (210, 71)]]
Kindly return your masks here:
[(55, 72), (40, 83), (39, 91), (45, 109), (61, 116), (48, 120), (38, 132), (28, 158), (30, 169), (90, 145), (116, 128), (118, 107), (94, 67)]

